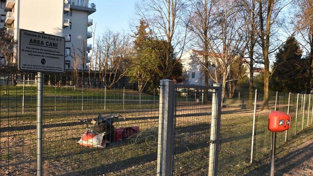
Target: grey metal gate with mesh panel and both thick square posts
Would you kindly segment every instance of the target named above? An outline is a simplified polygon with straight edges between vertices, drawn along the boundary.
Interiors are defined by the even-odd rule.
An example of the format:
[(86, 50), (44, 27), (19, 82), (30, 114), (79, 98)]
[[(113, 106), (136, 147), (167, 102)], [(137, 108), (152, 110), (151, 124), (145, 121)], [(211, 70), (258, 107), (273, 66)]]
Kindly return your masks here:
[(158, 176), (217, 175), (221, 100), (221, 84), (161, 80)]

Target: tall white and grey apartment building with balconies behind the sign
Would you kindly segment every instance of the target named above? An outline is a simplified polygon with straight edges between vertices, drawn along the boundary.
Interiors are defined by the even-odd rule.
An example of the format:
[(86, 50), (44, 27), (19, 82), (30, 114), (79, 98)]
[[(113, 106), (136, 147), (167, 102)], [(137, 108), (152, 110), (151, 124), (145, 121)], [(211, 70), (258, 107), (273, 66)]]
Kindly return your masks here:
[[(46, 34), (65, 38), (65, 69), (89, 68), (89, 51), (92, 49), (87, 39), (92, 37), (88, 27), (92, 19), (88, 16), (96, 11), (91, 0), (0, 0), (0, 28), (18, 39), (19, 29), (44, 31)], [(83, 42), (86, 41), (86, 42)], [(85, 47), (83, 46), (85, 43)], [(85, 62), (82, 63), (85, 51)], [(75, 55), (74, 55), (75, 53)]]

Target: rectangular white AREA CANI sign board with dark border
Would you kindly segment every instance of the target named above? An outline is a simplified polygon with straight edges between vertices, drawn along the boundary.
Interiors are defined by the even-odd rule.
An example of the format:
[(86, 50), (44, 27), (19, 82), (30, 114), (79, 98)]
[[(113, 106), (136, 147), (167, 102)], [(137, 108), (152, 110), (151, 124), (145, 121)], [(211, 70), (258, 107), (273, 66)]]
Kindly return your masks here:
[(64, 37), (20, 29), (18, 70), (64, 73), (64, 65)]

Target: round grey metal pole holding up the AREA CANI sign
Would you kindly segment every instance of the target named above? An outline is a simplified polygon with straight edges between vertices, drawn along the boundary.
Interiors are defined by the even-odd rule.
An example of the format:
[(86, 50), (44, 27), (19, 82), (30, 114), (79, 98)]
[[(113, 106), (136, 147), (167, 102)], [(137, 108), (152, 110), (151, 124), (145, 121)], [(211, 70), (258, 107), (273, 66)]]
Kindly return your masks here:
[[(44, 32), (40, 32), (44, 33)], [(37, 176), (43, 175), (43, 88), (44, 79), (42, 72), (37, 72)]]

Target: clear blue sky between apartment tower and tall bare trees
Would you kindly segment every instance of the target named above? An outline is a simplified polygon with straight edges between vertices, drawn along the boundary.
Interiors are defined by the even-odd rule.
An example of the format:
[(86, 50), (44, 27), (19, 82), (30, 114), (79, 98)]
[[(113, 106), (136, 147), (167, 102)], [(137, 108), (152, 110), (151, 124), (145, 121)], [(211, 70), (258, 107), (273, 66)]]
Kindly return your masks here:
[[(97, 23), (95, 36), (101, 35), (107, 29), (113, 32), (130, 33), (129, 22), (132, 21), (135, 13), (135, 2), (136, 0), (90, 0), (89, 3), (95, 3), (97, 10), (88, 17), (93, 19), (93, 28)], [(92, 38), (88, 43), (91, 42)]]

